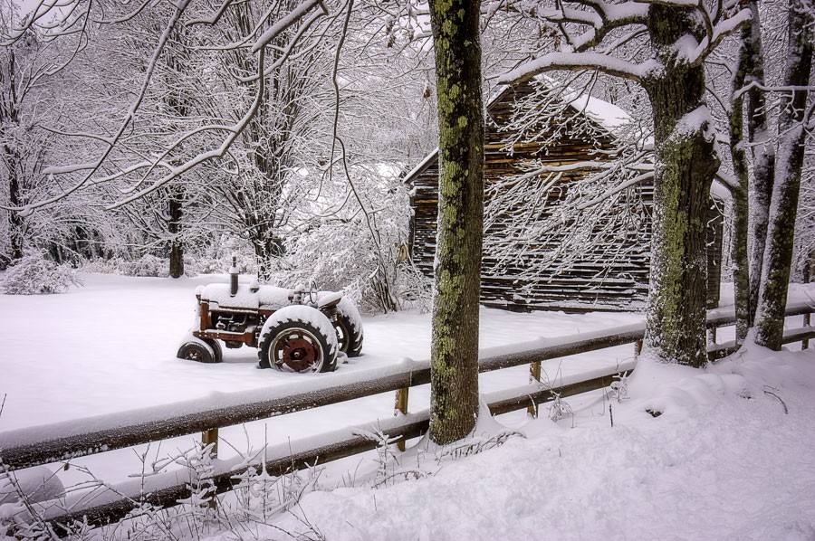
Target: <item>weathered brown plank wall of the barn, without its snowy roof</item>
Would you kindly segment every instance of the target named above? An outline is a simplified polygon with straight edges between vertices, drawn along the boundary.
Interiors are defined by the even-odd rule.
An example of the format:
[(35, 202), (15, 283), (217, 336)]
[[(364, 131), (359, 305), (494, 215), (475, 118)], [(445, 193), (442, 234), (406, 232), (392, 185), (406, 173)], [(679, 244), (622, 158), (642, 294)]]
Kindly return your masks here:
[[(606, 128), (602, 128), (585, 114), (572, 115), (570, 122), (583, 121), (580, 129), (567, 128), (556, 145), (542, 147), (539, 142), (521, 142), (513, 145), (513, 152), (507, 152), (505, 126), (513, 113), (513, 103), (533, 91), (528, 83), (512, 89), (505, 89), (487, 108), (484, 140), (484, 204), (490, 202), (490, 187), (506, 176), (523, 174), (523, 162), (537, 158), (544, 165), (562, 166), (598, 159), (598, 150), (614, 147), (614, 138)], [(577, 113), (575, 109), (573, 112)], [(577, 118), (577, 119), (576, 119)], [(593, 124), (593, 126), (592, 126)], [(592, 137), (581, 137), (575, 133), (592, 132)], [(594, 131), (592, 131), (594, 130)], [(555, 189), (548, 193), (549, 201), (542, 205), (542, 215), (550, 211), (565, 196), (570, 184), (586, 170), (564, 172)], [(411, 204), (414, 209), (411, 238), (411, 255), (417, 268), (427, 276), (433, 276), (436, 255), (436, 226), (438, 214), (438, 156), (428, 156), (417, 166), (408, 178), (413, 186)], [(653, 186), (638, 185), (629, 190), (636, 191), (632, 200), (638, 208), (626, 208), (623, 212), (638, 213), (638, 222), (650, 236), (650, 211), (653, 206)], [(485, 242), (490, 235), (502, 235), (513, 220), (517, 209), (506, 208), (496, 217), (493, 224), (484, 232)], [(715, 219), (712, 214), (712, 223)], [(621, 246), (624, 256), (614, 261), (606, 260), (599, 253), (580, 254), (577, 261), (561, 271), (535, 271), (547, 265), (543, 261), (518, 258), (510, 264), (498, 264), (485, 254), (482, 261), (481, 300), (485, 306), (513, 310), (564, 309), (581, 310), (639, 310), (645, 307), (648, 288), (648, 264), (650, 259), (649, 242), (642, 242), (643, 231), (625, 237)], [(711, 262), (718, 268), (721, 253), (721, 228), (718, 236), (711, 233), (710, 242), (718, 239), (719, 252), (711, 251)], [(560, 242), (557, 233), (541, 239), (541, 245), (554, 246)], [(550, 265), (551, 267), (551, 265)], [(719, 273), (711, 276), (718, 284)], [(718, 300), (718, 287), (716, 287)]]

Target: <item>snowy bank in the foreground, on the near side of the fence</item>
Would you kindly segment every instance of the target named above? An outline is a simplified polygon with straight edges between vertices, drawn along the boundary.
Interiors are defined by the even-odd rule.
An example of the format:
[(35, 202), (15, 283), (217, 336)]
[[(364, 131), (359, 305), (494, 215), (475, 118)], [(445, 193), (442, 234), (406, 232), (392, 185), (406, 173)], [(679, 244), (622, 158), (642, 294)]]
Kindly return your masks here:
[(585, 404), (464, 460), (427, 452), (424, 479), (312, 492), (275, 526), (360, 541), (815, 539), (811, 352), (638, 371), (613, 427), (609, 402)]

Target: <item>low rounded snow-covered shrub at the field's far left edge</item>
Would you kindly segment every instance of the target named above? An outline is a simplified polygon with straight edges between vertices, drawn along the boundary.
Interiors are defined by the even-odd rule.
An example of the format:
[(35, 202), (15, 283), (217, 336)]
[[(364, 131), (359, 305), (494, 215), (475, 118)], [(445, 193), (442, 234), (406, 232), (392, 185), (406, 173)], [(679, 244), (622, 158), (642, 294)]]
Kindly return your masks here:
[(2, 287), (8, 295), (62, 293), (71, 286), (81, 286), (70, 265), (57, 265), (38, 252), (28, 253), (5, 272)]

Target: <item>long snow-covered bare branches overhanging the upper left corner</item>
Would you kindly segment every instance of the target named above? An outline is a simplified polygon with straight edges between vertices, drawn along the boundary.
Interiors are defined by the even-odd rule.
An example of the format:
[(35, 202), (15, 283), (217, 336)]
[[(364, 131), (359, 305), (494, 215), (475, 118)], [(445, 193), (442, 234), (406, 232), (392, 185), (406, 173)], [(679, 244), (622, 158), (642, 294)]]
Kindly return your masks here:
[[(302, 42), (302, 39), (311, 30), (312, 25), (315, 24), (321, 17), (329, 14), (326, 6), (323, 2), (321, 2), (321, 0), (306, 0), (302, 2), (302, 4), (294, 7), (293, 10), (280, 16), (277, 21), (273, 21), (273, 17), (275, 16), (274, 11), (280, 12), (283, 9), (284, 4), (278, 3), (270, 6), (264, 6), (263, 13), (254, 14), (254, 22), (252, 22), (250, 17), (246, 17), (246, 24), (241, 23), (241, 26), (235, 27), (235, 30), (240, 33), (237, 40), (233, 39), (231, 40), (231, 43), (227, 45), (212, 44), (205, 45), (203, 47), (193, 45), (190, 47), (188, 49), (189, 51), (201, 50), (213, 51), (220, 54), (243, 55), (243, 52), (237, 51), (245, 49), (246, 43), (251, 43), (251, 51), (254, 53), (254, 58), (256, 59), (251, 63), (260, 62), (263, 64), (264, 69), (259, 71), (255, 70), (254, 74), (244, 76), (243, 73), (245, 73), (246, 70), (251, 67), (251, 65), (247, 64), (246, 61), (242, 61), (244, 62), (243, 64), (238, 63), (233, 66), (229, 66), (227, 67), (227, 70), (232, 71), (233, 77), (235, 77), (237, 81), (241, 81), (245, 87), (254, 87), (255, 91), (252, 105), (248, 107), (248, 109), (243, 109), (240, 111), (240, 117), (234, 124), (230, 124), (228, 122), (210, 121), (209, 123), (205, 123), (203, 126), (197, 126), (195, 128), (185, 130), (180, 135), (177, 135), (175, 140), (163, 144), (158, 149), (149, 150), (147, 152), (140, 150), (137, 151), (137, 147), (132, 147), (131, 140), (140, 138), (140, 140), (148, 141), (150, 138), (154, 138), (149, 134), (149, 131), (140, 132), (136, 131), (136, 128), (139, 126), (140, 122), (144, 121), (143, 117), (145, 113), (141, 111), (141, 106), (144, 100), (147, 99), (149, 90), (155, 83), (154, 80), (156, 79), (156, 73), (158, 70), (164, 69), (159, 68), (158, 59), (165, 54), (165, 50), (170, 42), (171, 35), (178, 32), (184, 32), (185, 29), (197, 24), (218, 24), (222, 21), (222, 17), (224, 17), (225, 14), (229, 14), (230, 9), (243, 9), (242, 5), (237, 5), (231, 0), (227, 0), (220, 5), (215, 14), (208, 17), (192, 18), (185, 23), (182, 20), (182, 15), (184, 15), (187, 11), (191, 11), (187, 9), (190, 3), (191, 0), (183, 0), (176, 6), (174, 13), (169, 18), (168, 23), (165, 25), (163, 32), (158, 37), (158, 43), (156, 43), (156, 45), (152, 48), (151, 57), (145, 64), (145, 71), (141, 78), (139, 91), (136, 93), (136, 97), (129, 103), (127, 112), (125, 113), (123, 119), (121, 119), (117, 128), (111, 131), (105, 129), (104, 131), (107, 133), (103, 134), (92, 133), (88, 130), (52, 128), (53, 133), (62, 135), (66, 138), (92, 139), (101, 143), (99, 155), (95, 159), (83, 161), (81, 164), (52, 166), (45, 169), (46, 174), (51, 176), (67, 176), (80, 172), (82, 172), (82, 176), (73, 180), (71, 185), (61, 188), (56, 194), (14, 207), (15, 211), (18, 211), (24, 215), (31, 214), (36, 209), (54, 204), (62, 198), (72, 195), (87, 186), (100, 185), (101, 183), (108, 183), (121, 178), (126, 178), (127, 176), (135, 173), (139, 173), (140, 179), (137, 182), (121, 190), (124, 194), (133, 195), (129, 195), (127, 198), (117, 201), (114, 204), (110, 204), (107, 207), (111, 209), (118, 208), (122, 204), (128, 204), (140, 196), (147, 195), (150, 192), (157, 190), (161, 186), (172, 181), (174, 178), (177, 178), (177, 176), (184, 175), (207, 161), (225, 157), (229, 147), (231, 147), (236, 138), (244, 131), (248, 123), (254, 117), (254, 114), (260, 107), (260, 103), (264, 100), (268, 100), (269, 98), (268, 96), (264, 96), (264, 93), (268, 93), (268, 90), (264, 85), (264, 78), (269, 77), (275, 71), (280, 70), (285, 62), (289, 62), (292, 54), (294, 54), (295, 47)], [(78, 10), (81, 9), (81, 4), (82, 2), (72, 2), (66, 4), (66, 8)], [(139, 14), (142, 14), (142, 12), (144, 12), (145, 8), (148, 6), (149, 3), (142, 3), (134, 7), (128, 14), (110, 17), (97, 17), (95, 21), (101, 24), (121, 24), (125, 21), (132, 20), (134, 17), (139, 16)], [(311, 13), (315, 8), (317, 9), (317, 12)], [(84, 7), (82, 7), (82, 9), (84, 9)], [(90, 7), (88, 7), (88, 9), (90, 9)], [(86, 21), (88, 18), (89, 17), (87, 16), (84, 16), (83, 18), (77, 18), (74, 16), (68, 24), (75, 24), (76, 21), (79, 20)], [(267, 23), (270, 20), (272, 23)], [(269, 24), (268, 28), (261, 33), (261, 30), (263, 30), (264, 26), (267, 24)], [(62, 33), (69, 31), (64, 26), (55, 26), (55, 28), (57, 28), (58, 32)], [(281, 39), (283, 33), (287, 33), (289, 36), (285, 40)], [(260, 34), (259, 37), (257, 37), (258, 34)], [(225, 37), (230, 37), (235, 34), (230, 31), (223, 33), (223, 35)], [(212, 43), (211, 38), (206, 38), (206, 41)], [(320, 40), (318, 38), (315, 40), (315, 43), (301, 48), (299, 54), (310, 54), (310, 48), (319, 43), (319, 41)], [(261, 59), (265, 58), (265, 55), (262, 54), (262, 52), (264, 52), (264, 50), (268, 47), (272, 47), (274, 50), (272, 56), (273, 62), (262, 62)], [(235, 67), (238, 66), (240, 66), (239, 71), (235, 71)], [(206, 72), (202, 73), (201, 75), (206, 79)], [(215, 87), (212, 87), (211, 90), (215, 90)], [(206, 119), (203, 120), (206, 122)], [(194, 122), (194, 119), (187, 117), (184, 121), (190, 123)], [(223, 136), (218, 135), (219, 133), (223, 134)], [(216, 138), (216, 146), (212, 147), (205, 141), (205, 139), (202, 138), (206, 138), (206, 141), (212, 141), (213, 138)], [(194, 155), (191, 157), (188, 156), (190, 150), (200, 147), (202, 144), (206, 145), (204, 149), (194, 152)], [(206, 149), (207, 147), (209, 147), (209, 149)], [(132, 151), (141, 153), (147, 159), (142, 159), (137, 163), (124, 164), (120, 166), (121, 155)], [(184, 153), (187, 154), (187, 157), (181, 157), (181, 155)], [(181, 159), (180, 163), (178, 163), (179, 158)], [(165, 169), (167, 173), (161, 175), (158, 179), (151, 179), (150, 177), (154, 176), (154, 174), (157, 172), (157, 168), (159, 167)], [(115, 169), (115, 171), (112, 173), (110, 173), (111, 168)], [(109, 171), (105, 172), (104, 169), (108, 169)], [(147, 187), (142, 187), (146, 182), (149, 182)]]

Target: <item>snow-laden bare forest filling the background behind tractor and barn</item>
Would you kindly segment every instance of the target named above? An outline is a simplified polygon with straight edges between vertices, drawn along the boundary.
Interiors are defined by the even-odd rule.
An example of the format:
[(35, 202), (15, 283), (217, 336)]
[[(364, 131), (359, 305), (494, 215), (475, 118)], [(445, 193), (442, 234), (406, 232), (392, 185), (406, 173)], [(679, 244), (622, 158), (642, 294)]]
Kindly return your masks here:
[[(427, 306), (426, 280), (404, 261), (411, 186), (400, 181), (436, 147), (426, 8), (321, 4), (299, 24), (270, 24), (312, 4), (245, 3), (220, 13), (209, 3), (110, 2), (49, 11), (47, 4), (3, 0), (0, 266), (29, 255), (36, 266), (44, 257), (87, 271), (177, 277), (224, 271), (238, 254), (244, 270), (264, 280), (345, 288), (368, 309), (417, 299)], [(786, 5), (755, 9), (762, 12), (764, 81), (744, 81), (733, 70), (743, 43), (738, 33), (723, 36), (704, 59), (724, 186), (733, 185), (728, 180), (739, 167), (761, 166), (753, 155), (772, 144), (788, 86), (789, 25), (779, 24)], [(499, 76), (561, 46), (552, 24), (551, 14), (521, 4), (485, 3), (485, 97), (494, 95)], [(260, 77), (249, 38), (264, 29)], [(631, 42), (636, 57), (636, 36)], [(552, 115), (552, 96), (568, 88), (608, 100), (633, 120), (617, 156), (617, 167), (633, 173), (601, 171), (574, 190), (552, 226), (566, 240), (564, 253), (591, 242), (590, 221), (580, 217), (598, 212), (586, 201), (612, 201), (620, 183), (644, 177), (653, 123), (646, 92), (626, 79), (549, 71), (545, 81), (536, 100), (552, 101)], [(751, 107), (762, 110), (762, 131), (733, 141), (733, 110), (743, 108), (745, 96), (758, 100), (751, 92), (759, 88), (761, 103)], [(528, 121), (529, 110), (519, 107), (516, 125)], [(811, 105), (805, 125), (810, 113)], [(798, 276), (815, 247), (811, 127), (807, 134)], [(541, 189), (530, 183), (502, 195), (485, 222), (502, 208), (535, 201)], [(733, 220), (739, 199), (725, 201)], [(613, 212), (610, 204), (599, 206), (600, 214)], [(527, 222), (522, 216), (518, 231), (488, 238), (486, 252), (511, 261), (517, 246), (505, 239), (528, 234), (521, 229)]]

